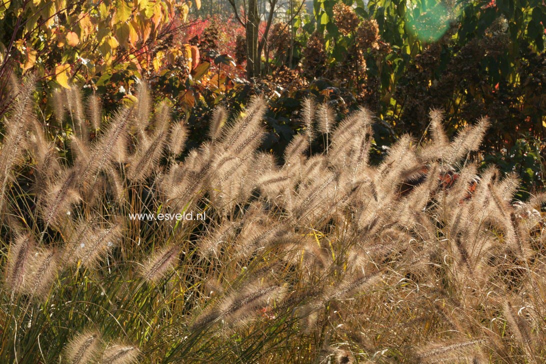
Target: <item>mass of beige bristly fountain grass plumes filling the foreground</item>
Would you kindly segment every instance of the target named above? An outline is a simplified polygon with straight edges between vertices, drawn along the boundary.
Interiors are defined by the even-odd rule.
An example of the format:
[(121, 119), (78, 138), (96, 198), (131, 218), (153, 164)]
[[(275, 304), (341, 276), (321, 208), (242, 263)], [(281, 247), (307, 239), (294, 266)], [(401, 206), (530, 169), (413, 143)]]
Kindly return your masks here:
[(483, 165), (487, 118), (450, 138), (433, 110), (372, 163), (369, 110), (305, 99), (281, 160), (263, 98), (193, 146), (146, 82), (51, 117), (13, 82), (1, 363), (546, 362), (546, 195)]

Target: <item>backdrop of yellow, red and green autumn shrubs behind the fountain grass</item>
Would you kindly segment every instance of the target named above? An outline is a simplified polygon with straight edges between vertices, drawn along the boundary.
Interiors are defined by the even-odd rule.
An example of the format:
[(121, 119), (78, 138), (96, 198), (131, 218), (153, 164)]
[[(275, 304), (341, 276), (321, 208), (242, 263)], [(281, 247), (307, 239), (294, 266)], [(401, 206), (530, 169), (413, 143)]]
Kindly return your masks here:
[(404, 133), (428, 137), (431, 108), (446, 111), (450, 135), (487, 115), (493, 124), (480, 150), (484, 162), (517, 172), (526, 191), (543, 184), (546, 8), (538, 0), (418, 1), (411, 8), (293, 2), (274, 20), (262, 74), (252, 82), (244, 77), (245, 29), (227, 18), (227, 3), (204, 1), (200, 10), (198, 3), (97, 4), (5, 3), (2, 73), (16, 66), (52, 85), (85, 84), (109, 111), (120, 99), (133, 102), (134, 82), (146, 77), (155, 97), (170, 99), (189, 123), (195, 145), (213, 107), (240, 110), (264, 94), (271, 133), (263, 147), (278, 156), (300, 129), (298, 110), (310, 95), (340, 117), (359, 105), (375, 112), (378, 160), (381, 147)]

